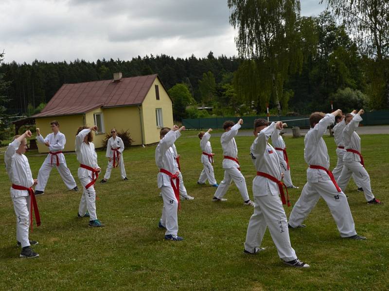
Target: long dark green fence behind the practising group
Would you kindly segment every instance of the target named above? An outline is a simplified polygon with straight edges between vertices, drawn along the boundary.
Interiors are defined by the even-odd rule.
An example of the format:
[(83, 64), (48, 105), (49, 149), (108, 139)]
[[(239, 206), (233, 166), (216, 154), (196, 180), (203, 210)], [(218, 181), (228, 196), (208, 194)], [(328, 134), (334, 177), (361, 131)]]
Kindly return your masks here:
[[(241, 117), (212, 117), (212, 118), (188, 118), (183, 119), (182, 124), (187, 129), (221, 129), (223, 128), (223, 123), (226, 120), (232, 120), (233, 122), (238, 122)], [(243, 129), (251, 129), (254, 124), (254, 120), (257, 118), (264, 118), (266, 116), (244, 116), (243, 118)], [(288, 127), (293, 126), (309, 126), (309, 116), (270, 116), (270, 121), (285, 121), (288, 124)], [(389, 124), (389, 111), (374, 111), (366, 112), (362, 115), (363, 125), (379, 125), (379, 124)]]

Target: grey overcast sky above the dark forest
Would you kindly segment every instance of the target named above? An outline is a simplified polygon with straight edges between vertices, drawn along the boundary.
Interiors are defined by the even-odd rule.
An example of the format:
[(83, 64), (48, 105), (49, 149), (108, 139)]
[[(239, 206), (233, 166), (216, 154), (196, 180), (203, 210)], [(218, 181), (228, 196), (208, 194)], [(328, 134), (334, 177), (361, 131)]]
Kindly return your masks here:
[[(301, 0), (301, 15), (324, 10)], [(237, 55), (227, 0), (1, 0), (4, 62)]]

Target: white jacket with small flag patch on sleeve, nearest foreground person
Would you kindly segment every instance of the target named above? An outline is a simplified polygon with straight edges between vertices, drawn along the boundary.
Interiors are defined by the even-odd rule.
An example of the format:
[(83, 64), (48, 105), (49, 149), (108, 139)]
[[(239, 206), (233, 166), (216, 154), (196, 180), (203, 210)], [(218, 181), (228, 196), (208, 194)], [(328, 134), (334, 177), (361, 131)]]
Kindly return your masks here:
[[(276, 123), (274, 122), (262, 129), (251, 145), (250, 151), (252, 162), (257, 172), (264, 172), (281, 181), (280, 160), (277, 151), (267, 143), (274, 130), (277, 130)], [(252, 181), (252, 185), (254, 196), (280, 194), (277, 183), (262, 176), (256, 176)]]

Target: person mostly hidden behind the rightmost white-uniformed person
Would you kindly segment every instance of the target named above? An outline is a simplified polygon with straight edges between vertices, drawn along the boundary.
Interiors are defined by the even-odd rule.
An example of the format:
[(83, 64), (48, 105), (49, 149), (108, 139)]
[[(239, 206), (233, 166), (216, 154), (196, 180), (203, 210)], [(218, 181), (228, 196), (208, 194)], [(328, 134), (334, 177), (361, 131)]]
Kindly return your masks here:
[[(355, 114), (356, 111), (354, 110), (350, 114)], [(336, 167), (334, 170), (332, 170), (332, 174), (334, 175), (335, 180), (340, 176), (340, 173), (343, 170), (343, 157), (346, 153), (346, 150), (344, 149), (344, 142), (343, 142), (343, 129), (346, 127), (346, 122), (344, 121), (344, 114), (335, 116), (336, 125), (333, 128), (334, 131), (334, 140), (336, 144), (336, 156), (337, 156), (337, 162)], [(358, 181), (358, 176), (353, 174), (353, 179), (358, 187), (358, 191), (363, 191), (361, 188), (361, 184)]]

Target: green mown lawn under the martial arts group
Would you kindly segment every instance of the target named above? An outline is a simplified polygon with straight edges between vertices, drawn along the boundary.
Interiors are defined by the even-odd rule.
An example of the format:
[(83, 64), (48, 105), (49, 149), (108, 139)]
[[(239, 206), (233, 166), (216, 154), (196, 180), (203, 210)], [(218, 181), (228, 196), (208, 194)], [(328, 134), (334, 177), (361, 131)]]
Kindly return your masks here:
[[(285, 267), (278, 258), (268, 231), (257, 256), (243, 254), (252, 208), (243, 206), (241, 195), (231, 185), (226, 203), (212, 203), (215, 191), (196, 185), (202, 169), (196, 131), (184, 132), (177, 140), (180, 163), (188, 193), (178, 214), (183, 242), (166, 242), (158, 226), (162, 209), (154, 160), (155, 146), (131, 147), (124, 151), (127, 177), (112, 172), (106, 184), (97, 184), (97, 214), (104, 228), (88, 228), (87, 218), (76, 218), (81, 193), (67, 191), (56, 170), (45, 194), (38, 196), (42, 225), (30, 238), (39, 241), (38, 259), (19, 259), (16, 247), (15, 213), (9, 194), (10, 182), (1, 171), (0, 199), (0, 290), (388, 290), (387, 221), (389, 195), (389, 135), (363, 135), (362, 152), (371, 176), (372, 189), (383, 205), (367, 205), (354, 182), (346, 194), (358, 234), (367, 241), (340, 238), (329, 209), (320, 199), (308, 216), (305, 229), (290, 232), (299, 258), (311, 265), (301, 270)], [(237, 137), (239, 160), (252, 198), (255, 169), (249, 146), (253, 137)], [(335, 144), (325, 137), (331, 167), (336, 163)], [(300, 190), (290, 191), (295, 202), (306, 181), (303, 138), (285, 137), (292, 180)], [(211, 138), (215, 176), (223, 178), (222, 151), (218, 137)], [(29, 152), (35, 177), (45, 156)], [(106, 169), (105, 151), (98, 151)], [(74, 153), (66, 154), (77, 178)], [(100, 178), (99, 178), (100, 180)], [(285, 208), (287, 215), (291, 211)]]

